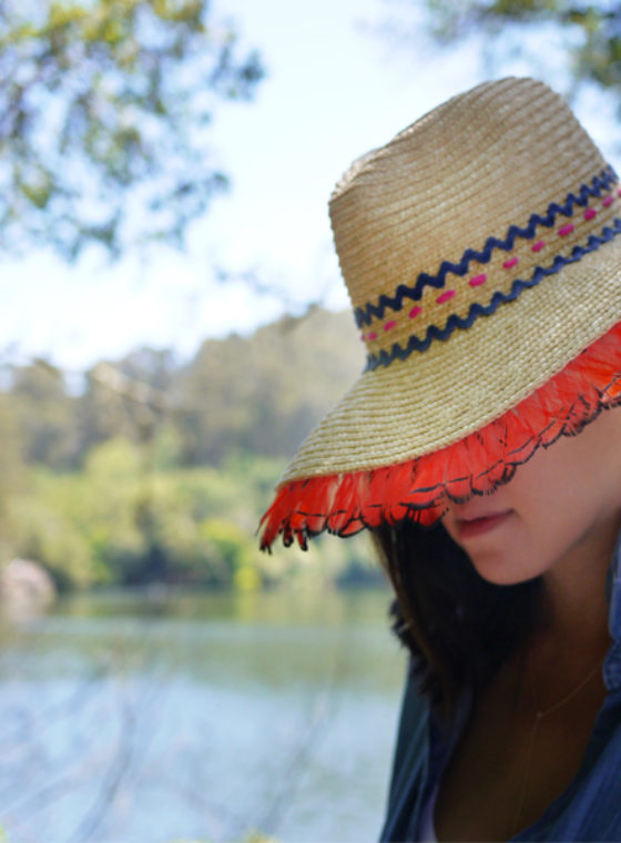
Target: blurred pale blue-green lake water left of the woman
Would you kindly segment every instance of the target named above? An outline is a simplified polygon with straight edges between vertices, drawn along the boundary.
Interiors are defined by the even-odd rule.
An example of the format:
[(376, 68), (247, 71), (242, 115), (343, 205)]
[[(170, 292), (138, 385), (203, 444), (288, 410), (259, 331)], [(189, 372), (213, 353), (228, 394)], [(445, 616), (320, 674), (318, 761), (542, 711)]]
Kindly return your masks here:
[(387, 603), (115, 593), (6, 624), (0, 839), (376, 840), (405, 671)]

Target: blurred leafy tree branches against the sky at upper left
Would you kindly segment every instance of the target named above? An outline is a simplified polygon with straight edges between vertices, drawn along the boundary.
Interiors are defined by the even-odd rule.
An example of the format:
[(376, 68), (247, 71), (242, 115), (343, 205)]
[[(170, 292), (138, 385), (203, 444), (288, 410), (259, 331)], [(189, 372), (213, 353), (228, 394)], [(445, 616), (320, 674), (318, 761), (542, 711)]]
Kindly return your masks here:
[(0, 0), (0, 246), (181, 246), (226, 186), (218, 101), (263, 74), (208, 0)]

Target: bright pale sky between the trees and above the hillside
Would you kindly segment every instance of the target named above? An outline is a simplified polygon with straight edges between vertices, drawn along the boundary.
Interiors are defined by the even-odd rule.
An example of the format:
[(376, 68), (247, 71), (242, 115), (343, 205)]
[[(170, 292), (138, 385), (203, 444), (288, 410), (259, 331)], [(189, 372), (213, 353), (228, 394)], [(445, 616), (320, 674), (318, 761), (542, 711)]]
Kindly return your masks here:
[[(401, 48), (381, 34), (395, 3), (214, 0), (266, 68), (254, 101), (215, 113), (211, 151), (231, 192), (194, 225), (186, 253), (112, 265), (90, 254), (72, 267), (44, 252), (6, 261), (4, 362), (41, 356), (78, 373), (143, 345), (187, 359), (207, 337), (309, 302), (347, 307), (327, 216), (334, 184), (355, 158), (482, 79), (476, 44), (438, 52), (420, 35)], [(233, 280), (218, 282), (215, 268)]]

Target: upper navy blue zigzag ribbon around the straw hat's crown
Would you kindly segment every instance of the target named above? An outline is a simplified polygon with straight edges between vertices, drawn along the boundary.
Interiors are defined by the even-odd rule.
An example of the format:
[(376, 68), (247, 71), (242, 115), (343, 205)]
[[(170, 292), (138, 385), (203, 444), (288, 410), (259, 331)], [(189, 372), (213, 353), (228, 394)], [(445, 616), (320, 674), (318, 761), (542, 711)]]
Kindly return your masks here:
[(505, 240), (488, 237), (481, 252), (477, 252), (474, 248), (467, 248), (459, 263), (454, 264), (450, 263), (450, 261), (442, 261), (436, 275), (429, 275), (426, 272), (421, 272), (414, 286), (408, 287), (407, 284), (399, 284), (394, 296), (381, 294), (377, 304), (369, 302), (362, 307), (357, 307), (354, 311), (356, 325), (362, 328), (365, 325), (370, 325), (374, 317), (384, 318), (384, 314), (388, 308), (395, 312), (400, 311), (404, 306), (404, 299), (406, 298), (419, 301), (423, 297), (425, 287), (442, 287), (448, 273), (454, 273), (455, 275), (460, 276), (467, 275), (472, 261), (476, 261), (479, 264), (489, 263), (495, 248), (502, 248), (506, 252), (510, 252), (518, 237), (532, 240), (537, 234), (538, 225), (543, 225), (547, 228), (553, 227), (559, 214), (562, 214), (563, 216), (572, 216), (576, 205), (584, 207), (584, 205), (588, 204), (590, 196), (601, 196), (602, 191), (608, 191), (610, 185), (615, 181), (617, 173), (612, 166), (608, 166), (605, 170), (601, 171), (599, 176), (593, 176), (592, 187), (588, 184), (582, 184), (578, 195), (569, 193), (563, 204), (559, 205), (557, 202), (552, 202), (548, 206), (544, 216), (531, 214), (526, 228), (520, 228), (518, 225), (510, 225)]

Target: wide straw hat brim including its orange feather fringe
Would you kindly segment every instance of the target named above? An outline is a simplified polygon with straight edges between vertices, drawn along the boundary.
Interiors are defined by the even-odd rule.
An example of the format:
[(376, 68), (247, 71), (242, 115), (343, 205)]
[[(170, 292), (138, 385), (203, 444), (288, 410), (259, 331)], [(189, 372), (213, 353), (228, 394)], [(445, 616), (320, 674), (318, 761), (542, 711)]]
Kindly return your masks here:
[[(602, 409), (621, 404), (620, 261), (617, 238), (605, 254), (566, 267), (556, 287), (567, 319), (547, 329), (537, 306), (541, 299), (530, 296), (518, 311), (506, 308), (502, 331), (485, 319), (477, 326), (478, 343), (476, 334), (460, 334), (452, 373), (459, 389), (442, 393), (437, 367), (421, 372), (418, 358), (365, 373), (288, 467), (262, 519), (262, 548), (278, 536), (285, 545), (296, 539), (305, 548), (324, 530), (346, 537), (404, 519), (430, 526), (448, 499), (493, 491), (538, 448), (579, 433)], [(578, 308), (570, 307), (576, 304), (568, 298), (572, 286), (592, 293)], [(552, 293), (550, 287), (547, 295)], [(589, 306), (600, 293), (604, 306)], [(528, 332), (518, 327), (518, 318), (528, 321)], [(492, 334), (491, 345), (499, 336), (502, 342), (496, 355), (479, 356), (474, 367), (469, 343), (480, 355), (487, 349), (480, 344), (486, 332)], [(490, 407), (490, 392), (505, 412), (499, 413), (499, 404)], [(421, 407), (428, 410), (425, 427)], [(447, 430), (455, 431), (452, 439)]]

